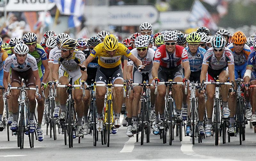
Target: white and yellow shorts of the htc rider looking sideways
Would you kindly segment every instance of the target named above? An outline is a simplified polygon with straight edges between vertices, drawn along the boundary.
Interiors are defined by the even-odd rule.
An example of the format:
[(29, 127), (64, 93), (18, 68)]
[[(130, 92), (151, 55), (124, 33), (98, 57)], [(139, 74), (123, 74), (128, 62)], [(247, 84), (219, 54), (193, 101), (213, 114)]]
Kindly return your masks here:
[[(72, 78), (72, 85), (82, 85), (81, 83), (81, 70), (80, 68), (78, 68), (75, 71), (68, 71), (64, 66), (60, 65), (59, 67), (59, 79), (60, 77), (67, 77), (68, 80), (70, 81), (70, 79)], [(75, 89), (79, 89), (80, 87), (76, 87)]]

